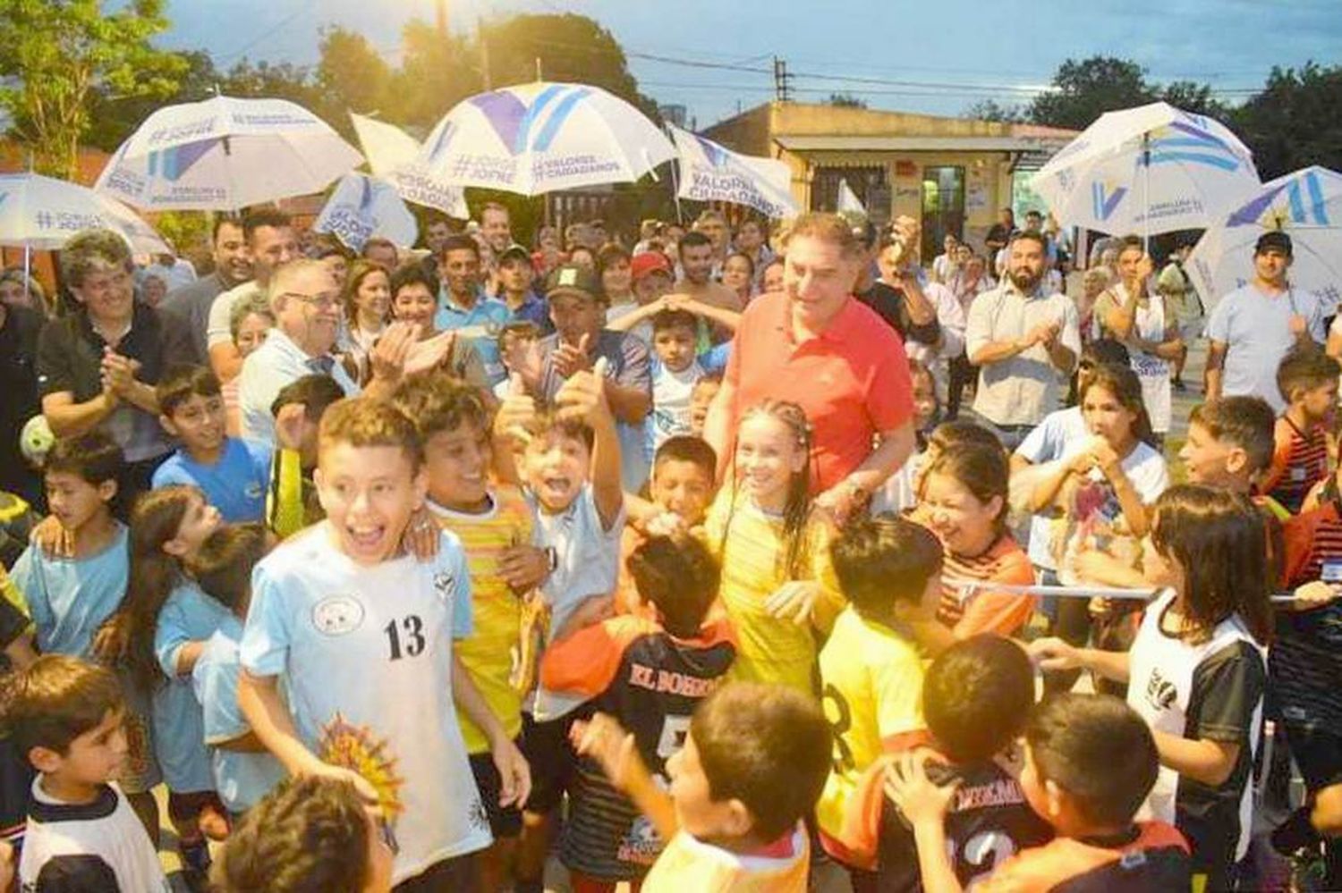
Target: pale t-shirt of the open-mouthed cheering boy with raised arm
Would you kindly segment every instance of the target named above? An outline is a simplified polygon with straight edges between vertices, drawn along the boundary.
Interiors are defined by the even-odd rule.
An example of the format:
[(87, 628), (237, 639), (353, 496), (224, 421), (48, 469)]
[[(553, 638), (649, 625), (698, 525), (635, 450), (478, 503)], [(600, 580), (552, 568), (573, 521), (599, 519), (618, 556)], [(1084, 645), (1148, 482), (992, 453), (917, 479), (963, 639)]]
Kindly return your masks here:
[[(558, 514), (545, 511), (530, 489), (522, 493), (535, 512), (535, 544), (554, 550), (556, 567), (541, 583), (541, 595), (550, 606), (549, 636), (553, 637), (588, 598), (615, 591), (620, 575), (624, 510), (620, 510), (611, 530), (605, 530), (592, 484), (584, 484), (577, 499)], [(546, 721), (564, 716), (584, 700), (537, 687), (527, 709), (537, 721)]]

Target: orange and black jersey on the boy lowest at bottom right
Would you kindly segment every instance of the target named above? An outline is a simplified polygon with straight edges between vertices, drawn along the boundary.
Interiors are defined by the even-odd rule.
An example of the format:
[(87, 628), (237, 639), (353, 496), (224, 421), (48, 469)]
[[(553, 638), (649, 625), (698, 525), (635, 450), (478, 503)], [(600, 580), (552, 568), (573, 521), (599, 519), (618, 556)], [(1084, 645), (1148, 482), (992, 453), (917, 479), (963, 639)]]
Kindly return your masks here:
[(1117, 838), (1060, 837), (1025, 850), (974, 889), (986, 893), (1146, 893), (1188, 890), (1184, 835), (1165, 822), (1139, 822)]

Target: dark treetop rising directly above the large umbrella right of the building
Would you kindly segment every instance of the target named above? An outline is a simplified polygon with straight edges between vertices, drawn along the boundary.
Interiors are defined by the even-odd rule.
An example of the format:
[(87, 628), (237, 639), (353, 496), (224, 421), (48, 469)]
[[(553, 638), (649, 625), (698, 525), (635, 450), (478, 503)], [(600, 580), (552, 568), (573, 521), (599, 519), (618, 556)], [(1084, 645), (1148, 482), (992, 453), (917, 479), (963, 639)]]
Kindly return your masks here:
[(1157, 98), (1146, 72), (1129, 59), (1068, 59), (1053, 75), (1053, 90), (1029, 103), (1029, 119), (1051, 127), (1084, 130), (1106, 111), (1130, 109)]

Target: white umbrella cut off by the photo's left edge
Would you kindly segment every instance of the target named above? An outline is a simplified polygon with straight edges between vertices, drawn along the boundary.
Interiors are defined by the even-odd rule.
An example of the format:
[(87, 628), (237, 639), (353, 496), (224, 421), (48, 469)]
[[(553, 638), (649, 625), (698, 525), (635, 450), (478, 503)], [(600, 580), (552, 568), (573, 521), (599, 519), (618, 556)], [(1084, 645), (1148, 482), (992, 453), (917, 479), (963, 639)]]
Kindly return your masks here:
[(136, 253), (165, 253), (168, 244), (115, 198), (35, 173), (0, 174), (0, 244), (54, 251), (81, 229), (118, 233)]

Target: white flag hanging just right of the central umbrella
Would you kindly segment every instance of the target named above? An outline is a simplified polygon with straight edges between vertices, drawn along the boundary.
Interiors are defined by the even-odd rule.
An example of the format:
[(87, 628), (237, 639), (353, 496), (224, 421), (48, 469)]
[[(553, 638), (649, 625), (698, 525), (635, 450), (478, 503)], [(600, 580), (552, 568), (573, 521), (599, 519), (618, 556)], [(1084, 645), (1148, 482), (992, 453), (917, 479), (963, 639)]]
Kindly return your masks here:
[(711, 139), (668, 125), (680, 158), (680, 198), (731, 201), (769, 217), (792, 217), (792, 169), (784, 161), (742, 156)]

